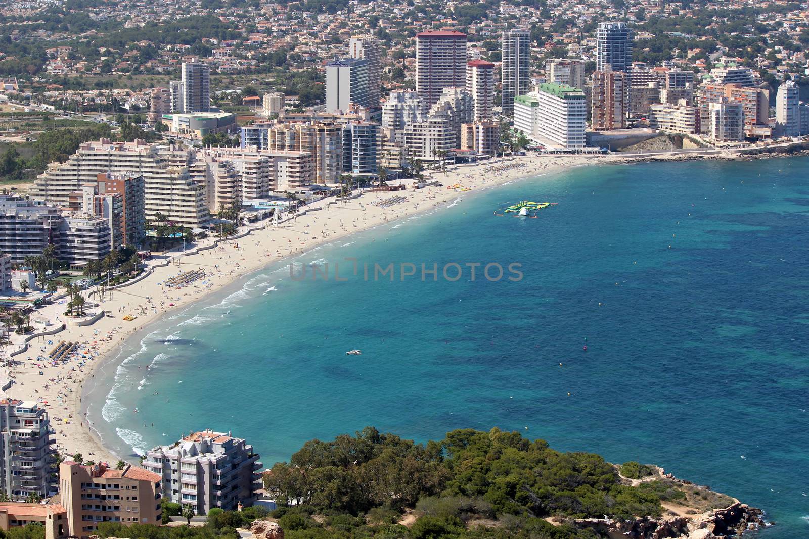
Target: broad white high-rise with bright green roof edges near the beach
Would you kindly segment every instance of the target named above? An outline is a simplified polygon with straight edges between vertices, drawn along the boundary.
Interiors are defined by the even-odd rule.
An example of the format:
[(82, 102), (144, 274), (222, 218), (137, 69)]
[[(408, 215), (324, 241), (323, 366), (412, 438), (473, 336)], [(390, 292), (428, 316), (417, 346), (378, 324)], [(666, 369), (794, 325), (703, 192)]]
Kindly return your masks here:
[(515, 99), (515, 129), (549, 149), (583, 148), (586, 119), (584, 92), (570, 86), (540, 84)]

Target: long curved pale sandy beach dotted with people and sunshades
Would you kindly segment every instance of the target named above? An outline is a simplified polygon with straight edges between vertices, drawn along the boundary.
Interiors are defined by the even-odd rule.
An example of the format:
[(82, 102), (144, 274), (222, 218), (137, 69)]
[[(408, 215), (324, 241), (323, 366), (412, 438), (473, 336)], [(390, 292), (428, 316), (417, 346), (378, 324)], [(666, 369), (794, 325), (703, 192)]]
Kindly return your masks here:
[[(459, 166), (455, 170), (434, 174), (434, 179), (443, 187), (413, 189), (413, 180), (403, 180), (408, 185), (402, 192), (364, 192), (358, 198), (333, 203), (334, 199), (321, 200), (307, 208), (320, 208), (294, 220), (286, 221), (277, 228), (271, 222), (261, 221), (244, 238), (228, 240), (209, 251), (193, 255), (175, 256), (167, 267), (156, 267), (154, 272), (135, 284), (107, 292), (101, 298), (86, 291), (84, 296), (91, 304), (87, 310), (104, 310), (113, 318), (100, 318), (89, 326), (67, 326), (57, 335), (37, 337), (29, 344), (28, 351), (15, 356), (8, 376), (14, 381), (5, 394), (11, 398), (46, 402), (54, 436), (60, 453), (82, 453), (86, 460), (116, 461), (104, 448), (87, 424), (83, 410), (83, 386), (91, 384), (95, 369), (111, 356), (111, 352), (129, 336), (170, 310), (179, 309), (201, 297), (222, 288), (266, 264), (307, 251), (324, 242), (357, 233), (375, 225), (412, 215), (447, 204), (459, 196), (474, 194), (487, 186), (506, 183), (513, 179), (541, 174), (553, 174), (572, 166), (588, 163), (608, 164), (614, 158), (583, 156), (537, 156), (527, 155), (483, 162), (474, 166)], [(428, 179), (428, 181), (430, 181)], [(396, 181), (389, 182), (396, 184)], [(462, 187), (448, 188), (458, 184)], [(394, 196), (404, 200), (385, 207), (379, 204)], [(199, 245), (210, 245), (212, 238)], [(179, 256), (177, 256), (179, 255)], [(164, 262), (162, 256), (152, 263)], [(183, 272), (199, 270), (204, 276), (179, 288), (164, 285), (166, 280)], [(49, 329), (65, 322), (62, 314), (64, 304), (47, 305), (37, 310), (32, 318), (49, 318)], [(131, 321), (123, 318), (135, 317)], [(23, 339), (12, 335), (9, 350), (19, 347)], [(53, 366), (47, 359), (49, 352), (61, 341), (78, 343), (74, 359)]]

